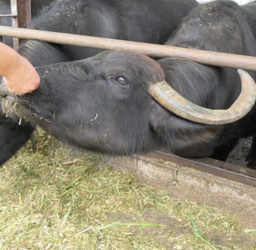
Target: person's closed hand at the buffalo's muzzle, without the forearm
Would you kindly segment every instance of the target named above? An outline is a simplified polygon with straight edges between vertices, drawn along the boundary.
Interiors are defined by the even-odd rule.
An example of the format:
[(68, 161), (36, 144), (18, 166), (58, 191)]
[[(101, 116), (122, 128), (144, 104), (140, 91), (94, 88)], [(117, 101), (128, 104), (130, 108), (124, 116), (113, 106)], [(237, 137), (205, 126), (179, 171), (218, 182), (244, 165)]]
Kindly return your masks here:
[(13, 94), (25, 95), (36, 90), (40, 84), (40, 77), (30, 62), (18, 56), (15, 65), (3, 77), (8, 90)]

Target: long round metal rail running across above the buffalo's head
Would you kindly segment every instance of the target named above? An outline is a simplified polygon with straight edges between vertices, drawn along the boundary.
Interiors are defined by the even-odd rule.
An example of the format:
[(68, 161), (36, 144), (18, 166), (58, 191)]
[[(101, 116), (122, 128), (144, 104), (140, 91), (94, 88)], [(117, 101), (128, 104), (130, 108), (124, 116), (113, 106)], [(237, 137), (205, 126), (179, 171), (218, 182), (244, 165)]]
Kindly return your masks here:
[(180, 57), (190, 59), (201, 64), (256, 71), (256, 57), (252, 56), (4, 26), (0, 27), (0, 35), (19, 37), (21, 39), (43, 40), (51, 43), (99, 48), (110, 51), (127, 50), (154, 57)]

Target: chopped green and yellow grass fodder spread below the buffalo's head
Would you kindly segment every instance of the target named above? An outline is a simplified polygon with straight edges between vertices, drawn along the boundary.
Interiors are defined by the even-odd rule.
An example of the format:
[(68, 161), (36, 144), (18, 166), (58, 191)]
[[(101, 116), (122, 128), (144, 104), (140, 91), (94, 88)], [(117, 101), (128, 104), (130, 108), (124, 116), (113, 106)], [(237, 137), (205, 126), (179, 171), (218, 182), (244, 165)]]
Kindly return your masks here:
[(42, 131), (0, 170), (0, 249), (256, 249), (243, 230)]

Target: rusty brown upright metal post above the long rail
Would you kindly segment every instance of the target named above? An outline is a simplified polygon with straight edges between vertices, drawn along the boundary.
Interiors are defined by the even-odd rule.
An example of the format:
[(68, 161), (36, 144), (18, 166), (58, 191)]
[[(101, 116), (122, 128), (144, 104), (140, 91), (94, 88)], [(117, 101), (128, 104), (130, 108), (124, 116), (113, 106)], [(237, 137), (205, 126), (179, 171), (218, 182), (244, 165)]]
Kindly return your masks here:
[(19, 27), (23, 28), (31, 21), (30, 0), (17, 0), (17, 13)]

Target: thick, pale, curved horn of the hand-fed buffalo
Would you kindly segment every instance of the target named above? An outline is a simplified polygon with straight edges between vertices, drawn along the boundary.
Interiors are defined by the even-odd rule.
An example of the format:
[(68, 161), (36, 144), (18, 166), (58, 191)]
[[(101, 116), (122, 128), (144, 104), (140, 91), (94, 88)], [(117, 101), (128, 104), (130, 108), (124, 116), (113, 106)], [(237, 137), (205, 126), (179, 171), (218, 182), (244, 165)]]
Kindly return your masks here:
[(241, 93), (228, 109), (208, 109), (191, 103), (165, 82), (149, 86), (149, 93), (167, 110), (190, 121), (203, 124), (226, 124), (245, 116), (256, 100), (256, 86), (251, 76), (238, 69), (241, 78)]

